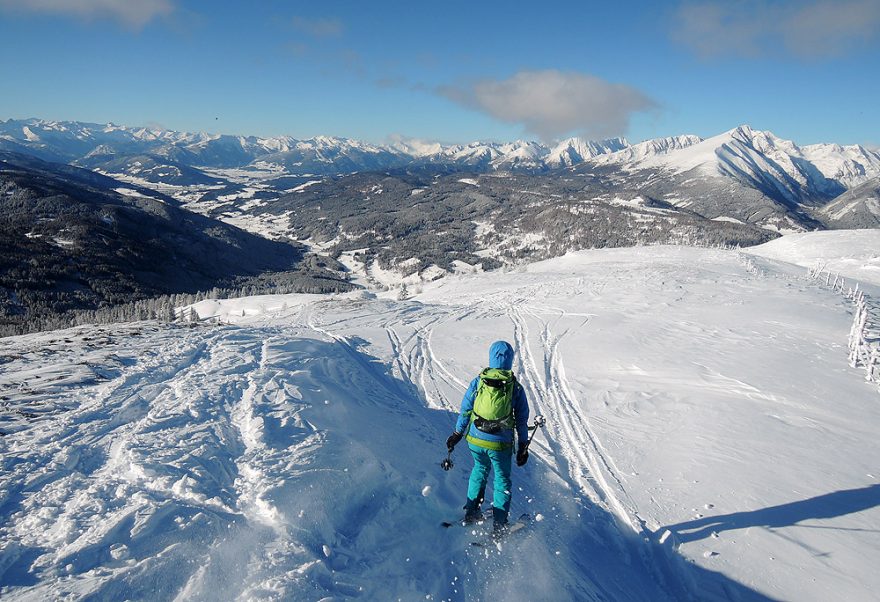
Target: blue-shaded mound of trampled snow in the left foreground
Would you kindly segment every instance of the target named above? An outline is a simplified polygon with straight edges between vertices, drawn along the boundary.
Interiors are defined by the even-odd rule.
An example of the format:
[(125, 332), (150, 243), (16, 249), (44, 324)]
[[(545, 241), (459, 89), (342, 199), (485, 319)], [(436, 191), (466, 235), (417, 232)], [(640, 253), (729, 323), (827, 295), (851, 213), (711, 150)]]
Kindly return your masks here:
[[(370, 324), (387, 305), (349, 315)], [(4, 438), (17, 462), (3, 477), (3, 583), (26, 586), (7, 593), (677, 597), (619, 564), (628, 558), (598, 560), (604, 536), (562, 537), (587, 505), (560, 497), (552, 478), (518, 475), (520, 501), (548, 518), (514, 553), (468, 550), (468, 533), (438, 531), (460, 512), (468, 472), (463, 461), (444, 482), (435, 463), (454, 415), (427, 409), (364, 341), (332, 333), (325, 307), (304, 306), (293, 327), (158, 330), (130, 349), (119, 377), (71, 391), (75, 409)], [(422, 357), (428, 332), (407, 339), (420, 350), (410, 357)], [(511, 578), (523, 570), (540, 578)]]

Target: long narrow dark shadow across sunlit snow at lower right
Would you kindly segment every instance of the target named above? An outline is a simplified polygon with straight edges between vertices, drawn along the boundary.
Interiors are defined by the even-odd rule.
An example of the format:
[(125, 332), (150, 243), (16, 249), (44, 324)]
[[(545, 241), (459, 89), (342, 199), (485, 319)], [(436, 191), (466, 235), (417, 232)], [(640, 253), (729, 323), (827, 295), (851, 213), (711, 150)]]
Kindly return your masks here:
[(859, 489), (826, 493), (806, 500), (771, 506), (760, 510), (707, 516), (697, 520), (661, 527), (675, 534), (678, 543), (709, 537), (712, 533), (748, 527), (788, 527), (805, 520), (834, 518), (880, 506), (880, 483)]

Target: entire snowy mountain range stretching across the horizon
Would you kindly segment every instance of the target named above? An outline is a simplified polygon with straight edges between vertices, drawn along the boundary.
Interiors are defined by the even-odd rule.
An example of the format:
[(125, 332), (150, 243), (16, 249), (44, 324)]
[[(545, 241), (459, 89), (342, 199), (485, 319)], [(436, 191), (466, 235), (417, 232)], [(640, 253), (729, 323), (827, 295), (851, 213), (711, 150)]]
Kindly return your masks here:
[[(177, 186), (172, 192), (187, 196), (187, 202), (206, 191), (181, 191), (181, 185), (208, 187), (217, 181), (215, 188), (226, 191), (216, 194), (233, 205), (236, 190), (246, 190), (255, 178), (266, 195), (272, 196), (267, 189), (274, 188), (277, 196), (302, 183), (284, 180), (291, 176), (390, 170), (588, 176), (609, 190), (635, 191), (705, 218), (782, 232), (843, 224), (827, 220), (821, 208), (880, 176), (877, 151), (858, 145), (799, 147), (747, 125), (705, 140), (682, 135), (636, 144), (622, 138), (571, 138), (553, 146), (531, 141), (442, 145), (397, 138), (376, 145), (327, 136), (260, 138), (32, 119), (0, 122), (3, 148), (91, 166), (137, 184)], [(223, 170), (237, 171), (229, 175)], [(269, 178), (277, 185), (267, 183)], [(231, 182), (235, 185), (224, 188)]]

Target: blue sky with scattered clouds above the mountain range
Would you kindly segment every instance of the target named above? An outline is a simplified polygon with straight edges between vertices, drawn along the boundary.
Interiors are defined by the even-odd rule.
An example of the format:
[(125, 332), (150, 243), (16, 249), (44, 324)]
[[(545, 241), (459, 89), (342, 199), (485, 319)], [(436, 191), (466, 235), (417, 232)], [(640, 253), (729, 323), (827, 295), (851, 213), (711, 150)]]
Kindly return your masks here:
[(0, 118), (880, 144), (880, 0), (0, 0)]

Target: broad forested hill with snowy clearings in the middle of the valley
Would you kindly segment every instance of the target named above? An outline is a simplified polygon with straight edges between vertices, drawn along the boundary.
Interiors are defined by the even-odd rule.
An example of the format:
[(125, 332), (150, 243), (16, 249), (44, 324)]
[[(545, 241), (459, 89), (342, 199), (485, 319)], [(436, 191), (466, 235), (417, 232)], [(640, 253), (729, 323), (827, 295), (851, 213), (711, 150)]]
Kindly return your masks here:
[[(749, 246), (776, 234), (709, 220), (582, 176), (353, 174), (313, 182), (236, 215), (254, 231), (283, 232), (367, 271), (430, 279), (456, 262), (484, 269), (568, 251), (652, 243)], [(375, 264), (375, 265), (374, 265)], [(360, 269), (358, 267), (357, 269)]]

